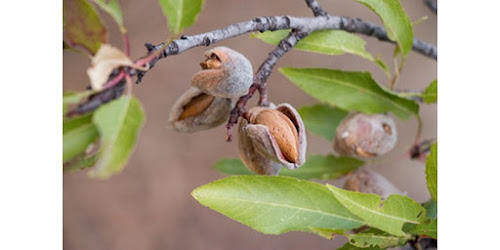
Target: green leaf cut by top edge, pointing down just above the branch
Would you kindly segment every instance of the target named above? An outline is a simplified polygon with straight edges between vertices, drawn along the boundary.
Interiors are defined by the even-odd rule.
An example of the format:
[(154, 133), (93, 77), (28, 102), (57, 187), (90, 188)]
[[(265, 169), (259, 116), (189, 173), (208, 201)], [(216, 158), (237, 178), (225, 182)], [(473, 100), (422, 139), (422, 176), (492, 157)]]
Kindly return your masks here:
[(158, 0), (168, 19), (170, 33), (179, 35), (193, 25), (203, 7), (203, 0)]

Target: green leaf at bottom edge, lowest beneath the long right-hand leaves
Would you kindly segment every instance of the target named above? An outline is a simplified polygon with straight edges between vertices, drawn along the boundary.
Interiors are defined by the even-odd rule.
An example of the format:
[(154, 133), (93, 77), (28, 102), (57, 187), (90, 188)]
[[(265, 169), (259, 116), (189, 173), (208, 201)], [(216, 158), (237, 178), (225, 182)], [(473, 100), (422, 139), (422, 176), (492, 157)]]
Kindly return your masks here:
[(373, 228), (358, 232), (356, 234), (349, 234), (344, 230), (331, 230), (325, 228), (311, 228), (311, 230), (313, 231), (313, 233), (316, 233), (327, 239), (332, 239), (335, 235), (343, 235), (347, 237), (351, 245), (360, 248), (377, 247), (385, 249), (388, 247), (396, 247), (405, 244), (406, 241), (408, 241), (408, 239), (410, 238), (390, 235)]

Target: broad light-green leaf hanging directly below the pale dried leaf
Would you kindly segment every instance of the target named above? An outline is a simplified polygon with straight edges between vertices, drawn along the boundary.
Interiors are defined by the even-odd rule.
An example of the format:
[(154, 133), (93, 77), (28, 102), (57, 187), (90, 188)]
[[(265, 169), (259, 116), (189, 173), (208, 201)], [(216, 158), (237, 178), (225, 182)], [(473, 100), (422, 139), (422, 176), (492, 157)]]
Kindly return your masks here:
[(90, 177), (108, 178), (120, 172), (135, 147), (144, 120), (141, 104), (133, 97), (123, 96), (101, 106), (93, 122), (101, 134), (101, 148)]

